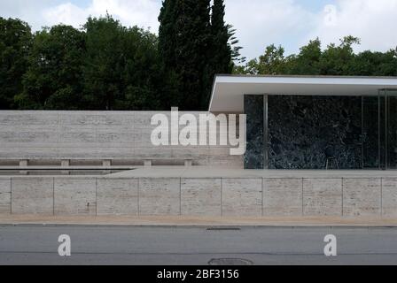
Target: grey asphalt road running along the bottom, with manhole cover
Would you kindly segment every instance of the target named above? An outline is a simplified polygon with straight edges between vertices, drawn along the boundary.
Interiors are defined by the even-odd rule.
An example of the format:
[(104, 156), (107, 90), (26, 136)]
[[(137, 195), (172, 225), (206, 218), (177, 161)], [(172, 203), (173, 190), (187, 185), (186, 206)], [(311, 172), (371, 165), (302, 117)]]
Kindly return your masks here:
[[(58, 236), (71, 256), (58, 255)], [(334, 234), (338, 256), (324, 256)], [(0, 264), (397, 264), (397, 227), (0, 226)]]

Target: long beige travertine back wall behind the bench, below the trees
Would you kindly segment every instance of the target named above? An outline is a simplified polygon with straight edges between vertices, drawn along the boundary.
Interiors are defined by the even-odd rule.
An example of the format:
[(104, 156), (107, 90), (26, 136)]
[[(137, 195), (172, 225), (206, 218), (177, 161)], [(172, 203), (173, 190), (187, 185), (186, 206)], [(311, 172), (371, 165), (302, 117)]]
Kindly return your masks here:
[[(0, 161), (189, 158), (199, 165), (243, 168), (243, 157), (230, 156), (229, 146), (153, 146), (151, 134), (157, 126), (151, 119), (157, 113), (0, 111)], [(170, 120), (170, 112), (163, 114)], [(199, 120), (206, 112), (192, 114)]]

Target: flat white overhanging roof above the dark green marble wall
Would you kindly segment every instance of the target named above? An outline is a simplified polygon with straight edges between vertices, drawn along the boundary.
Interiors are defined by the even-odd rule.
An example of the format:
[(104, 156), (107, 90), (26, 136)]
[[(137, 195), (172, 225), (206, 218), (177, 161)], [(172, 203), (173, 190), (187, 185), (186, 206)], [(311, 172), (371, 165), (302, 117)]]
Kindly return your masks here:
[(397, 88), (397, 77), (217, 75), (211, 112), (243, 112), (244, 95), (362, 96)]

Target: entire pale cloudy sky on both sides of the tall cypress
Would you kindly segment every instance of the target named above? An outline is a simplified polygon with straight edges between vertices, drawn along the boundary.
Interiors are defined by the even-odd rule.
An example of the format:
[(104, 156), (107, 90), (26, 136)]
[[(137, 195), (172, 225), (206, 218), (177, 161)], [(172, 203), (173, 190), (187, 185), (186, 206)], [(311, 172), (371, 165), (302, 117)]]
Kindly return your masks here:
[[(225, 0), (226, 21), (237, 29), (242, 55), (251, 59), (269, 44), (286, 54), (319, 37), (323, 48), (346, 35), (362, 40), (355, 51), (397, 47), (397, 0)], [(58, 23), (81, 27), (106, 11), (125, 26), (158, 32), (161, 0), (0, 0), (0, 16), (27, 21), (34, 30)]]

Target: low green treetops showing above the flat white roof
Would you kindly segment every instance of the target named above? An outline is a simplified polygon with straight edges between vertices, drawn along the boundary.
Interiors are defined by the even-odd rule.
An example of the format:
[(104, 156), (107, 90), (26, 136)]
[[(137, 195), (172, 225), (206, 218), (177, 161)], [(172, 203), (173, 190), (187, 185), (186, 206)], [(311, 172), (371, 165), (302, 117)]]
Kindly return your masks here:
[(283, 47), (269, 45), (265, 53), (235, 68), (234, 73), (267, 75), (352, 75), (396, 76), (397, 51), (385, 53), (370, 50), (354, 53), (354, 45), (360, 39), (346, 36), (339, 45), (331, 43), (322, 50), (317, 38), (300, 48), (299, 54), (286, 57)]

